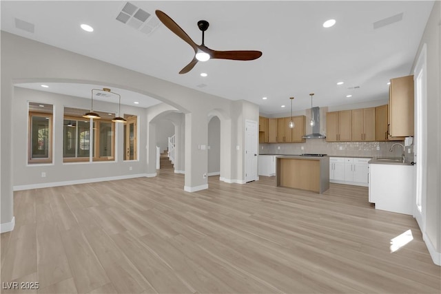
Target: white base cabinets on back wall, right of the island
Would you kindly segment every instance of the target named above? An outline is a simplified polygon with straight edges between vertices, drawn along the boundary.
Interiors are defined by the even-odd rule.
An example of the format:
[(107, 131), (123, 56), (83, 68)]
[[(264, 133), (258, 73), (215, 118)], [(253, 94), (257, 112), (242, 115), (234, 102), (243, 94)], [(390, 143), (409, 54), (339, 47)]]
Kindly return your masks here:
[(337, 184), (369, 185), (369, 162), (371, 158), (329, 158), (329, 182)]

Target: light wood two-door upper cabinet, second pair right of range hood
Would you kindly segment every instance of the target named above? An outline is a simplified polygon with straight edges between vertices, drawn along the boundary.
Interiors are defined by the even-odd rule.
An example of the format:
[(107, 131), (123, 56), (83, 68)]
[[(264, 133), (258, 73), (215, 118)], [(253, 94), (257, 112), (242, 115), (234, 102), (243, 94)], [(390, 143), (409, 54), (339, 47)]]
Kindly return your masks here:
[(376, 140), (375, 107), (352, 110), (351, 137), (353, 141)]

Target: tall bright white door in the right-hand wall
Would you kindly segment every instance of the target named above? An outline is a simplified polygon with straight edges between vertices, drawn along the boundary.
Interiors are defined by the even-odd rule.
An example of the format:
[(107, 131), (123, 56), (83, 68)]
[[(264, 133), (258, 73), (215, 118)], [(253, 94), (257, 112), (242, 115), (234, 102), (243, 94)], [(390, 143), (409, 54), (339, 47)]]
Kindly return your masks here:
[(422, 47), (415, 70), (413, 71), (415, 88), (415, 134), (413, 141), (413, 161), (416, 162), (416, 197), (413, 216), (421, 231), (425, 231), (426, 220), (426, 167), (427, 167), (427, 69), (426, 44)]

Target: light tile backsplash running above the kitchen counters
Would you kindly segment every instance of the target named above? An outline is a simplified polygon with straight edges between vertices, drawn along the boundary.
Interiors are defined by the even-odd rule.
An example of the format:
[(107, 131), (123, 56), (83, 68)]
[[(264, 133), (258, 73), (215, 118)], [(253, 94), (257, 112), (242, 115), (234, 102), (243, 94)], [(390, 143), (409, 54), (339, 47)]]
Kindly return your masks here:
[[(394, 143), (404, 145), (402, 141), (328, 143), (325, 139), (307, 139), (305, 143), (263, 143), (259, 145), (259, 154), (312, 153), (349, 157), (401, 157), (402, 148), (400, 146), (394, 147), (392, 152), (389, 151)], [(379, 150), (377, 150), (377, 147), (379, 147)], [(408, 153), (408, 149), (411, 149), (411, 153)], [(413, 161), (413, 146), (405, 147), (404, 154), (407, 160)]]

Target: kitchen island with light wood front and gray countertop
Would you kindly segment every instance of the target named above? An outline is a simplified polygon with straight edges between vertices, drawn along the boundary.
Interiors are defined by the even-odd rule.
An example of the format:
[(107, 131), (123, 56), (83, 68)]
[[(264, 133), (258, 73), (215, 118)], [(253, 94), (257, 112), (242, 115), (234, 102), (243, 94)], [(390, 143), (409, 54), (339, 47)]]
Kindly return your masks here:
[(277, 157), (276, 182), (280, 187), (323, 193), (329, 189), (329, 157)]

